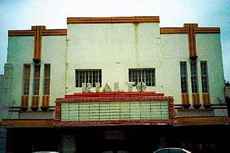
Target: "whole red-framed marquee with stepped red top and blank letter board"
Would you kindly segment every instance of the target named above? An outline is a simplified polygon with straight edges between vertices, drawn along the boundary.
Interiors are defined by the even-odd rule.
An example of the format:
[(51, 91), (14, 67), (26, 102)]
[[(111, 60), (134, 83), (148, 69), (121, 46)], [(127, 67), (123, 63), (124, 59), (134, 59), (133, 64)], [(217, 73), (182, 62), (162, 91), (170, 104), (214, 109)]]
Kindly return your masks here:
[(56, 100), (61, 122), (151, 122), (174, 117), (173, 98), (155, 92), (75, 93)]

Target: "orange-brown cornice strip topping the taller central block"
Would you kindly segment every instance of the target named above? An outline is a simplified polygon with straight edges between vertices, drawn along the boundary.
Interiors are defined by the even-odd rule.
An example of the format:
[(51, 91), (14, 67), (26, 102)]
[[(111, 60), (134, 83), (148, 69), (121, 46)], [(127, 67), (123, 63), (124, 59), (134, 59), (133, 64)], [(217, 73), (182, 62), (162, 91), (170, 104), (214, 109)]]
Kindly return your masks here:
[(130, 16), (130, 17), (68, 17), (67, 24), (94, 23), (160, 23), (159, 16)]

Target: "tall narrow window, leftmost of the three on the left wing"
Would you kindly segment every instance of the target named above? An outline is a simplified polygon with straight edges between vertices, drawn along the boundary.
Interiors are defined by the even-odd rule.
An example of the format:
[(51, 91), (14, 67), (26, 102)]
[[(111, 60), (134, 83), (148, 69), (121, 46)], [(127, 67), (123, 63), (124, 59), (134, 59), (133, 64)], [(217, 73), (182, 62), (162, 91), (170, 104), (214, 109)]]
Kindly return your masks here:
[(23, 66), (23, 95), (29, 95), (30, 91), (30, 64)]

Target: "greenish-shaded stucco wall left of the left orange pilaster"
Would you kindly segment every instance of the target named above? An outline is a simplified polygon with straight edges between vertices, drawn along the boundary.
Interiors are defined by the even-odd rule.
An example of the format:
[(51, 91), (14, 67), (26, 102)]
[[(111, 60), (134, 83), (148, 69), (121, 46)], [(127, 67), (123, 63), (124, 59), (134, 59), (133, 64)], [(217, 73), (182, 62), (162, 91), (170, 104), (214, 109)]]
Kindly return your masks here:
[[(13, 67), (13, 88), (9, 93), (11, 96), (8, 101), (11, 106), (20, 106), (21, 104), (23, 64), (31, 64), (32, 68), (33, 45), (34, 38), (32, 36), (9, 37), (8, 39), (7, 63), (12, 64)], [(32, 83), (30, 83), (30, 93), (32, 93)]]

